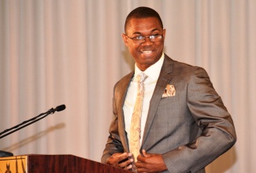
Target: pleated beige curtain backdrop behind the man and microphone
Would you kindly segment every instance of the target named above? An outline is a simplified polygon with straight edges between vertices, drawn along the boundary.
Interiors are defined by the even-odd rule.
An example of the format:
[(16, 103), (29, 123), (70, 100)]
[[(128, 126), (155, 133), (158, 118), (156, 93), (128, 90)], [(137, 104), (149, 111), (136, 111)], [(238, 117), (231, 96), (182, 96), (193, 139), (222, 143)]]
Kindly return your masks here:
[(206, 68), (232, 114), (238, 141), (207, 173), (253, 173), (255, 0), (0, 0), (0, 131), (67, 107), (1, 138), (0, 149), (100, 160), (113, 85), (134, 67), (121, 33), (138, 6), (160, 13), (165, 53)]

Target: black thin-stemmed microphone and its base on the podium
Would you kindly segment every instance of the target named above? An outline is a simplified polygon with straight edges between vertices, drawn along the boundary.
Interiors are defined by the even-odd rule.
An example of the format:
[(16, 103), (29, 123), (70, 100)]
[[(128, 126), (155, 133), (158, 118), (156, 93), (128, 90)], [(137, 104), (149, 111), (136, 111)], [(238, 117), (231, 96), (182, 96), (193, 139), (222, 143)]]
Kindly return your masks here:
[[(41, 114), (39, 114), (39, 116), (35, 116), (34, 118), (30, 119), (30, 120), (26, 120), (24, 121), (23, 123), (20, 123), (14, 127), (11, 127), (9, 129), (6, 129), (5, 131), (2, 131), (0, 133), (0, 138), (4, 138), (6, 137), (7, 135), (9, 134), (12, 134), (13, 132), (15, 131), (19, 131), (20, 129), (24, 128), (24, 127), (27, 127), (28, 125), (32, 124), (32, 123), (35, 123), (36, 121), (39, 121), (41, 119), (43, 119), (44, 117), (50, 115), (50, 114), (54, 114), (55, 111), (57, 112), (61, 112), (63, 111), (64, 109), (66, 108), (65, 105), (58, 105), (55, 109), (49, 109), (47, 112), (43, 112)], [(40, 117), (42, 116), (42, 117)], [(20, 127), (21, 126), (21, 127)], [(13, 131), (12, 131), (13, 130)], [(7, 133), (8, 131), (10, 131), (9, 133)], [(7, 133), (7, 134), (6, 134)], [(9, 153), (9, 152), (6, 152), (6, 151), (2, 151), (0, 150), (0, 157), (6, 157), (6, 156), (13, 156), (13, 153)]]

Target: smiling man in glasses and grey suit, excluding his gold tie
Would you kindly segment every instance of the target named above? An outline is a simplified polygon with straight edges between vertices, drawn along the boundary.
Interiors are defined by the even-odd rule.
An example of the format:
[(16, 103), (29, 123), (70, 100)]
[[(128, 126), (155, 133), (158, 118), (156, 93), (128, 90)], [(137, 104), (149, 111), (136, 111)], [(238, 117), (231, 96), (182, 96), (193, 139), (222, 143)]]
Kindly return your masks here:
[[(163, 53), (165, 29), (154, 9), (139, 7), (125, 21), (125, 46), (135, 71), (114, 86), (113, 114), (102, 163), (138, 172), (205, 172), (236, 142), (232, 117), (203, 68)], [(132, 113), (143, 72), (139, 156), (130, 153)], [(137, 161), (136, 161), (137, 160)]]

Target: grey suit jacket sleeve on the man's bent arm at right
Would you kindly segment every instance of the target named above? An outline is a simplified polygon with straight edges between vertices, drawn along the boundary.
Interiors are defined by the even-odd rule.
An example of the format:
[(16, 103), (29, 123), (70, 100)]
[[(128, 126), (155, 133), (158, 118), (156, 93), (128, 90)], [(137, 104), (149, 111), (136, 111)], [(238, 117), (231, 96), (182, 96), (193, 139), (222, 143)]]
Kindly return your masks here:
[(187, 109), (202, 133), (162, 155), (170, 172), (201, 170), (236, 142), (232, 118), (203, 68), (194, 68), (187, 79), (186, 99)]

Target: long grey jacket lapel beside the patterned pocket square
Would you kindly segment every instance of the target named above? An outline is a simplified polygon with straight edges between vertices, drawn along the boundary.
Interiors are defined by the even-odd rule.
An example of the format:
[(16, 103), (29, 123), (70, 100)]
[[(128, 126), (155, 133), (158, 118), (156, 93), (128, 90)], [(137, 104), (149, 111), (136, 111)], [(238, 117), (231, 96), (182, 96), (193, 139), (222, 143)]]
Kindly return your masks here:
[(161, 101), (161, 96), (165, 91), (165, 86), (173, 78), (173, 60), (165, 55), (165, 60), (161, 68), (161, 72), (158, 78), (158, 82), (155, 86), (154, 93), (150, 100), (150, 108), (147, 114), (147, 122), (145, 124), (143, 142), (141, 149), (144, 149), (145, 142), (147, 141), (147, 136), (150, 131), (151, 124), (153, 123), (155, 113), (157, 112), (159, 102)]

